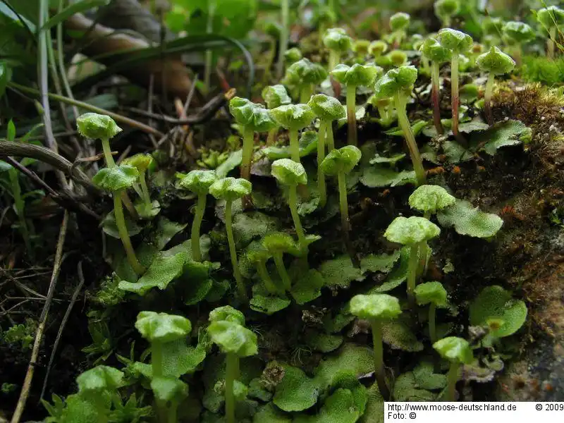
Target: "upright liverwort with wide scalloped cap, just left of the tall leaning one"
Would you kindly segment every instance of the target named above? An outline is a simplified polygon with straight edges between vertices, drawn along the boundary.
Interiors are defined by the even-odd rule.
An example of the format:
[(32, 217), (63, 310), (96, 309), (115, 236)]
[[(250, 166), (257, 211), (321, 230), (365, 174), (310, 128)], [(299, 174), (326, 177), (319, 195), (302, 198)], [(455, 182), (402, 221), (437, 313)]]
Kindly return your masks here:
[(355, 63), (353, 66), (338, 65), (331, 71), (331, 75), (347, 87), (347, 123), (348, 143), (357, 145), (357, 87), (369, 87), (374, 84), (379, 68)]

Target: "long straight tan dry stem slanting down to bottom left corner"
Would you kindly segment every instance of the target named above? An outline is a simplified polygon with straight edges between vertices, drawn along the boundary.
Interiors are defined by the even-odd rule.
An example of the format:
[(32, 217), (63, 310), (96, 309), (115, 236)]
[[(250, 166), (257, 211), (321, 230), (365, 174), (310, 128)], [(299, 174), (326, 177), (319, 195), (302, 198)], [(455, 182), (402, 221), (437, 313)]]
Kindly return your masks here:
[(66, 231), (68, 228), (68, 211), (65, 210), (63, 216), (63, 223), (61, 223), (61, 229), (59, 230), (59, 240), (57, 240), (57, 248), (55, 252), (55, 260), (53, 265), (53, 273), (51, 274), (51, 281), (49, 282), (49, 290), (47, 291), (47, 298), (39, 317), (39, 324), (37, 326), (37, 332), (35, 333), (35, 341), (33, 343), (30, 364), (27, 366), (27, 372), (25, 373), (25, 379), (23, 381), (22, 391), (20, 392), (20, 398), (18, 398), (18, 404), (16, 405), (16, 410), (13, 412), (11, 423), (19, 423), (23, 415), (23, 410), (25, 408), (25, 403), (27, 402), (27, 397), (30, 394), (31, 382), (33, 380), (33, 374), (35, 372), (35, 367), (37, 366), (37, 357), (39, 357), (39, 348), (43, 340), (43, 332), (45, 330), (45, 325), (47, 323), (47, 315), (49, 314), (49, 308), (51, 307), (51, 302), (53, 302), (53, 296), (55, 294), (55, 286), (57, 280), (59, 279), (59, 272), (61, 271), (61, 262), (63, 258), (63, 246), (65, 244)]

